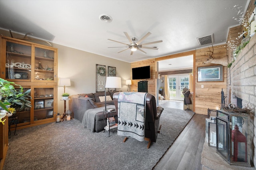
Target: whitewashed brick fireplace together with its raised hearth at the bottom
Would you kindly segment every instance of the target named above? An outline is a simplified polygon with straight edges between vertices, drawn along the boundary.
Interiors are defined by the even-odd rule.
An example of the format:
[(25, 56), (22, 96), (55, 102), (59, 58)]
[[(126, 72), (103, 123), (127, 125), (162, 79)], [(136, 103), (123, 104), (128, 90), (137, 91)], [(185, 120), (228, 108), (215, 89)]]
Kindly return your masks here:
[[(229, 63), (231, 58), (229, 57)], [(225, 67), (226, 68), (226, 67)], [(230, 75), (230, 76), (229, 76)], [(231, 90), (230, 90), (231, 89)], [(229, 93), (231, 92), (231, 94)], [(202, 169), (235, 169), (235, 170), (255, 170), (256, 165), (256, 34), (244, 49), (236, 56), (236, 61), (232, 66), (227, 68), (227, 98), (230, 96), (230, 103), (236, 107), (250, 106), (253, 113), (248, 116), (250, 137), (248, 138), (250, 145), (248, 152), (250, 154), (250, 164), (252, 167), (230, 165), (217, 152), (216, 147), (209, 147), (208, 143), (204, 143), (202, 151), (201, 163)], [(228, 102), (226, 102), (228, 103)]]

